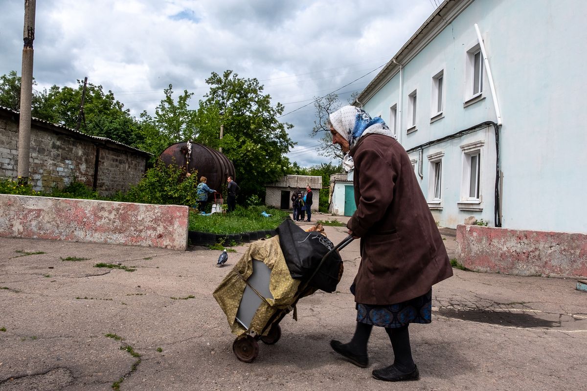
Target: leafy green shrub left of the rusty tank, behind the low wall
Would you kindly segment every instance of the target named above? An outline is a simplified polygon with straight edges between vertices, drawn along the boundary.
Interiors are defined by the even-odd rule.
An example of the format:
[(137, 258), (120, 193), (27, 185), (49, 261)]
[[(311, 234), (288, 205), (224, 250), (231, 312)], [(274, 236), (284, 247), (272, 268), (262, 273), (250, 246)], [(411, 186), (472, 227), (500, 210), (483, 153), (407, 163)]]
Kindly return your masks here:
[(197, 172), (191, 171), (191, 176), (185, 174), (183, 166), (166, 165), (163, 161), (157, 160), (155, 166), (147, 170), (136, 186), (131, 187), (126, 193), (116, 193), (112, 200), (159, 205), (195, 205)]

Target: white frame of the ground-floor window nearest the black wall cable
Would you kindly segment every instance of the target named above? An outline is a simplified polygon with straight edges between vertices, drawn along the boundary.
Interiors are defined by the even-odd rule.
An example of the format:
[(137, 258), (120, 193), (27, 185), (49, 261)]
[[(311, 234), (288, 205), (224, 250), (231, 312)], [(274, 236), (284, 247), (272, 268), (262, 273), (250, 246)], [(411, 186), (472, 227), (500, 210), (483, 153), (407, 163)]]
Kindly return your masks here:
[[(461, 196), (457, 206), (460, 210), (483, 210), (483, 176), (485, 159), (485, 142), (474, 141), (460, 146), (463, 155), (463, 175), (461, 176)], [(477, 160), (477, 194), (471, 196), (471, 158)]]

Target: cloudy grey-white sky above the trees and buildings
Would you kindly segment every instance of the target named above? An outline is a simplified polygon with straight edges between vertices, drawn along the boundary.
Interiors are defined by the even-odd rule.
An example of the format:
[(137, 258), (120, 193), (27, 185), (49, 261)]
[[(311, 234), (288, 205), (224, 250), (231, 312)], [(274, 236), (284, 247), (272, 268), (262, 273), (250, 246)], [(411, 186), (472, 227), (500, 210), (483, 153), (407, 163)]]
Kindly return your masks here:
[[(256, 77), (295, 110), (281, 118), (298, 142), (288, 156), (309, 166), (330, 161), (309, 135), (314, 98), (363, 90), (440, 2), (38, 0), (33, 76), (37, 89), (87, 76), (136, 116), (153, 114), (168, 84), (197, 108), (211, 72)], [(0, 74), (21, 74), (23, 17), (24, 0), (0, 0)]]

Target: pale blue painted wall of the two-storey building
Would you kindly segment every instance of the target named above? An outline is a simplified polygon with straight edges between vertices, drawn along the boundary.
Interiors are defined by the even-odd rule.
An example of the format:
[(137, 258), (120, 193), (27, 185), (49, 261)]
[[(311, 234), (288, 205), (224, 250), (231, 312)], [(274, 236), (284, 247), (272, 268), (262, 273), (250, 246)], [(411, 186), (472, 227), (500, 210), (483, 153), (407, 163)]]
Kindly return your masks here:
[[(401, 100), (400, 141), (406, 149), (484, 121), (497, 121), (487, 72), (480, 98), (467, 101), (467, 50), (478, 43), (474, 29), (478, 23), (503, 120), (502, 226), (587, 233), (587, 208), (569, 202), (587, 193), (587, 181), (582, 180), (587, 166), (583, 151), (587, 145), (587, 110), (583, 108), (587, 77), (580, 65), (587, 61), (587, 52), (577, 46), (587, 40), (587, 29), (582, 27), (586, 14), (587, 2), (582, 0), (475, 0), (403, 63), (403, 91), (398, 72), (369, 100), (362, 100), (364, 108), (389, 121), (389, 108)], [(443, 115), (434, 119), (432, 78), (440, 70), (444, 70), (446, 96)], [(417, 130), (407, 134), (408, 95), (414, 90)], [(458, 205), (463, 201), (460, 147), (475, 139), (485, 140), (482, 202), (476, 210), (464, 210)], [(493, 225), (495, 140), (491, 128), (468, 135), (467, 140), (424, 147), (424, 178), (420, 181), (424, 195), (430, 183), (426, 157), (438, 151), (445, 154), (442, 205), (434, 210), (440, 225), (454, 228), (468, 215)]]

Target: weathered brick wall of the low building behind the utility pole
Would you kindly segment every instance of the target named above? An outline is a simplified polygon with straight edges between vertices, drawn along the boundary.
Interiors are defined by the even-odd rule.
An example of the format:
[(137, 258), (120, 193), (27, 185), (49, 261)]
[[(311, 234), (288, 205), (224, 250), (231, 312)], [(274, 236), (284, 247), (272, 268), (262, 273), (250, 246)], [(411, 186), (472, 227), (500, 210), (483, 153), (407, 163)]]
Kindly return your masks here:
[[(97, 183), (96, 155), (99, 157)], [(126, 191), (144, 174), (149, 155), (136, 148), (92, 137), (45, 121), (31, 121), (29, 183), (50, 192), (72, 182), (95, 187), (101, 195)], [(0, 110), (0, 178), (16, 178), (18, 113)]]

